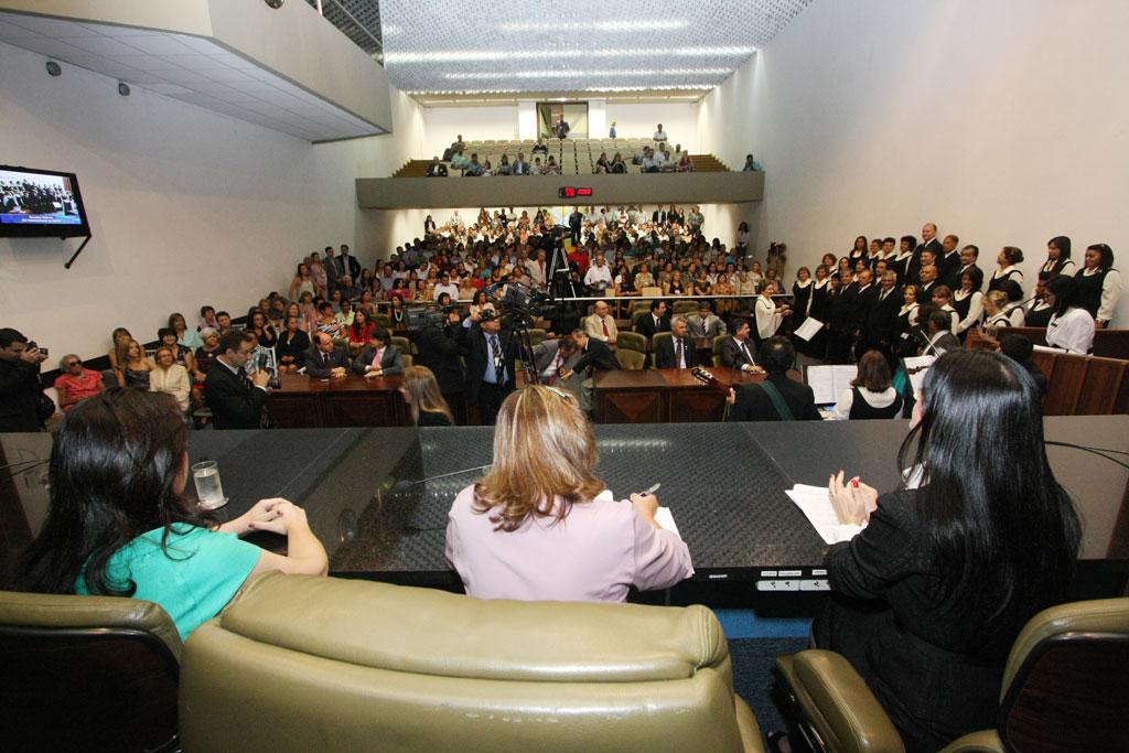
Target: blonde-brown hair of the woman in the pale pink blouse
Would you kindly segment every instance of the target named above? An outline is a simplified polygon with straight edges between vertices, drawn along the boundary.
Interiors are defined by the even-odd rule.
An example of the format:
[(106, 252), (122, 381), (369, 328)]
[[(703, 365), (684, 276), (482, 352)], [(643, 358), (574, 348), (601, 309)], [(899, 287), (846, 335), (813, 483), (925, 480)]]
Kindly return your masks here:
[(495, 531), (517, 531), (531, 517), (563, 520), (572, 505), (604, 489), (593, 475), (599, 449), (570, 393), (530, 385), (509, 395), (495, 427), (493, 466), (474, 485), (474, 509)]

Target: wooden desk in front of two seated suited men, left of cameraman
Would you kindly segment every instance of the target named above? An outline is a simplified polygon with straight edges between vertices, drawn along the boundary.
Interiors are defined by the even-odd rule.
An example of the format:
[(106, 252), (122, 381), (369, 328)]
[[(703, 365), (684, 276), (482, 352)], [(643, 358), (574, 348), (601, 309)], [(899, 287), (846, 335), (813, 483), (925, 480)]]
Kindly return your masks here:
[(280, 429), (411, 426), (400, 394), (402, 377), (376, 379), (350, 374), (339, 379), (313, 379), (283, 374), (282, 387), (271, 391), (266, 409), (271, 426)]

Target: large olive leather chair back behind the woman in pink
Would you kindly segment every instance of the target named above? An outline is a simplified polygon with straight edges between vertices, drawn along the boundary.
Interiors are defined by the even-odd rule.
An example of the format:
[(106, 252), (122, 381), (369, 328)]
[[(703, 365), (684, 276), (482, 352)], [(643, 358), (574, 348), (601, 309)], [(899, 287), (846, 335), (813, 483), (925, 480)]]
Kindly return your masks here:
[(761, 751), (702, 606), (483, 601), (266, 573), (192, 633), (208, 751)]

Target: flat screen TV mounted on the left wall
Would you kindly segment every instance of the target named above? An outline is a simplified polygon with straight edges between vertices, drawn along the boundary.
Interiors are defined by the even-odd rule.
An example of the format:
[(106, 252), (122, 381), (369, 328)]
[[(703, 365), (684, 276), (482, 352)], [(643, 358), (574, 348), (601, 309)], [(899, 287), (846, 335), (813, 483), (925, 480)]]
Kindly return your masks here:
[(73, 173), (0, 165), (0, 236), (87, 235), (90, 224)]

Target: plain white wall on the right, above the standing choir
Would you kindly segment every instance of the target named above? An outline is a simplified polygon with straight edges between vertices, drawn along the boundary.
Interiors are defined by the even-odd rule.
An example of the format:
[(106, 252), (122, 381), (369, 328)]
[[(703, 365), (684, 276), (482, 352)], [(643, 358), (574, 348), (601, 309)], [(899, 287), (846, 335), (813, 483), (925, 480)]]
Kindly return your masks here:
[(703, 146), (756, 154), (758, 247), (786, 240), (790, 269), (927, 221), (989, 269), (1019, 246), (1029, 279), (1056, 235), (1124, 266), (1126, 28), (1114, 0), (815, 2), (703, 100)]

